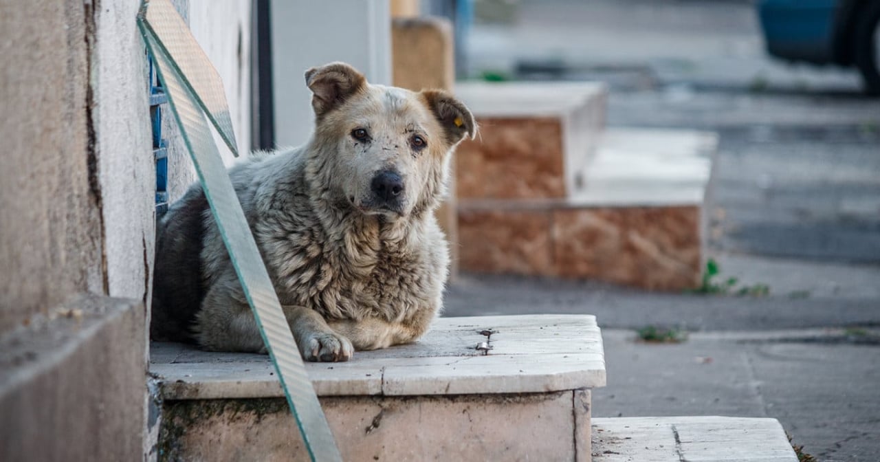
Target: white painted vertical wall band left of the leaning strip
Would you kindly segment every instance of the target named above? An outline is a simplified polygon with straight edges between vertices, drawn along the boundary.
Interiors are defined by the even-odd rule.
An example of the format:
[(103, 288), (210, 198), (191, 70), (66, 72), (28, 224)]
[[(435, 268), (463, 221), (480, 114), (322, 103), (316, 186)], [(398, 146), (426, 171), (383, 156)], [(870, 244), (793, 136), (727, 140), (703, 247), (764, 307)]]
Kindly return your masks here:
[(107, 295), (140, 300), (150, 287), (156, 166), (137, 10), (136, 2), (98, 10), (91, 85)]

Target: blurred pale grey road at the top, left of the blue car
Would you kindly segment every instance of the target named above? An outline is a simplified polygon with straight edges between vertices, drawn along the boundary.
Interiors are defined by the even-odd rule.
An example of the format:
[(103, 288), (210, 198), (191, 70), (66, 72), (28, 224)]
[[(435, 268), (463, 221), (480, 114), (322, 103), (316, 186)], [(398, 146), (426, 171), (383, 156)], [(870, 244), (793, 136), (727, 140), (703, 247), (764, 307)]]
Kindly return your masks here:
[[(504, 0), (513, 15), (477, 18), (468, 36), (466, 73), (601, 73), (635, 89), (661, 84), (849, 92), (850, 70), (817, 72), (766, 57), (751, 0)], [(485, 10), (485, 9), (484, 9)], [(495, 8), (495, 12), (504, 12)], [(490, 17), (489, 15), (483, 15)]]

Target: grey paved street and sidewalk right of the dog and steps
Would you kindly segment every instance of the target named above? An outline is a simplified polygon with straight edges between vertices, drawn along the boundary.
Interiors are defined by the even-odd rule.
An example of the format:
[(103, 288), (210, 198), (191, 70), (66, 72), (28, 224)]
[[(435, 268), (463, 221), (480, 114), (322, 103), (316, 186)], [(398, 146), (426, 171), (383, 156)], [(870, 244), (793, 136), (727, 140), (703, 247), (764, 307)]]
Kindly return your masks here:
[[(464, 275), (446, 314), (597, 314), (595, 415), (770, 416), (819, 460), (877, 460), (880, 345), (862, 328), (880, 326), (880, 99), (851, 70), (768, 59), (758, 31), (738, 0), (522, 0), (474, 27), (468, 70), (601, 79), (612, 125), (717, 130), (709, 253), (769, 296)], [(696, 334), (634, 342), (646, 325)]]

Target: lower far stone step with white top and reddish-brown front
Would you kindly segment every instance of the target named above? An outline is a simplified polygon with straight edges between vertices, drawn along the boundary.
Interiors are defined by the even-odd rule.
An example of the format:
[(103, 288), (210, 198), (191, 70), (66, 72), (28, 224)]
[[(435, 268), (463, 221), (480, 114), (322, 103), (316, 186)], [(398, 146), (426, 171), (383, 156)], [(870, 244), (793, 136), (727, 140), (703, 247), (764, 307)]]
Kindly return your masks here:
[(583, 188), (561, 199), (458, 203), (463, 270), (593, 278), (652, 290), (693, 288), (717, 137), (609, 129)]

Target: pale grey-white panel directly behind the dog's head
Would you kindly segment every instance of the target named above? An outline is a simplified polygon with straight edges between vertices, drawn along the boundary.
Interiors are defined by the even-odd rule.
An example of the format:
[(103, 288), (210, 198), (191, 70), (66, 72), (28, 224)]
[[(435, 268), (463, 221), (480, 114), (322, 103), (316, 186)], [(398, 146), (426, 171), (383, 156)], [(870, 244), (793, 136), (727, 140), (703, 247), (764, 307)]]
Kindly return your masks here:
[(305, 70), (342, 61), (371, 83), (391, 84), (388, 0), (272, 0), (270, 14), (277, 146), (297, 146), (312, 132)]

